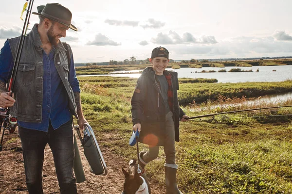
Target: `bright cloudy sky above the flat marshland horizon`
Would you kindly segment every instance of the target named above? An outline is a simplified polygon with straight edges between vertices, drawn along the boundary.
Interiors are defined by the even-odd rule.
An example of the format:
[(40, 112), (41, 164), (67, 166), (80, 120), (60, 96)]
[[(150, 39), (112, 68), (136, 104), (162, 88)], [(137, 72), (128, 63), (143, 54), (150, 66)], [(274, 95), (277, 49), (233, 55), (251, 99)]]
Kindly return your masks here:
[[(21, 34), (26, 0), (1, 1), (0, 47)], [(144, 60), (159, 46), (174, 60), (292, 56), (292, 0), (35, 0), (33, 11), (50, 2), (73, 14), (78, 32), (61, 41), (75, 63)]]

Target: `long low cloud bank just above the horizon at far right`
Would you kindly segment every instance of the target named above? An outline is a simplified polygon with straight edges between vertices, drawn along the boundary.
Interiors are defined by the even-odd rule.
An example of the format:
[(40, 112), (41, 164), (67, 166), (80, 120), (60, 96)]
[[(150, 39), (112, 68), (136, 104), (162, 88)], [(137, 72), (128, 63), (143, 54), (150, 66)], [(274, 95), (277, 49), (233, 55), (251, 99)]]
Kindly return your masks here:
[(284, 56), (287, 53), (291, 55), (292, 42), (275, 41), (273, 36), (237, 36), (222, 40), (218, 44), (173, 45), (172, 50), (173, 54), (189, 55), (193, 58), (198, 58), (198, 56), (201, 58), (206, 56), (218, 58)]

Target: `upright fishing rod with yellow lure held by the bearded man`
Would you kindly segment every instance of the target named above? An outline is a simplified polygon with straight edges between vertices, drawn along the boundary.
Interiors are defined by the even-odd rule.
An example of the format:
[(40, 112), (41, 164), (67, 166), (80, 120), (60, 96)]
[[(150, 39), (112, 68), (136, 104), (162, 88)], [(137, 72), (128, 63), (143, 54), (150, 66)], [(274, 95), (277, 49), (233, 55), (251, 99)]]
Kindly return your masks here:
[[(11, 91), (10, 96), (13, 95), (15, 78), (17, 75), (17, 69), (18, 69), (18, 65), (19, 65), (19, 61), (20, 61), (20, 57), (21, 57), (24, 39), (26, 37), (26, 32), (27, 32), (27, 29), (29, 26), (29, 19), (31, 16), (32, 7), (34, 4), (34, 0), (26, 0), (26, 1), (29, 1), (29, 3), (27, 3), (27, 2), (24, 3), (24, 6), (23, 6), (23, 9), (21, 12), (21, 16), (20, 16), (21, 20), (23, 20), (22, 15), (23, 15), (24, 11), (26, 11), (26, 16), (24, 19), (24, 24), (23, 24), (21, 35), (20, 35), (20, 40), (19, 40), (18, 49), (16, 52), (14, 66), (12, 69), (12, 74), (11, 74), (9, 85), (8, 85), (8, 92)], [(13, 117), (10, 115), (10, 108), (9, 107), (6, 109), (0, 108), (0, 124), (1, 124), (0, 125), (0, 133), (1, 133), (1, 129), (3, 128), (2, 137), (1, 137), (1, 141), (0, 141), (0, 151), (2, 151), (2, 142), (3, 142), (5, 129), (7, 129), (10, 133), (13, 133), (15, 131), (15, 128), (17, 127), (17, 117)]]

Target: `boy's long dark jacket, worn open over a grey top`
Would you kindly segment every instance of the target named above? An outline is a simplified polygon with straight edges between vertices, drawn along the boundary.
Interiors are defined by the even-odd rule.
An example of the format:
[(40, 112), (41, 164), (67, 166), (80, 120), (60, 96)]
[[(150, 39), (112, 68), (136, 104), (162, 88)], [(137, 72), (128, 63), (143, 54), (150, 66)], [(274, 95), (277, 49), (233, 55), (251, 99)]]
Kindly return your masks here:
[[(179, 81), (176, 72), (164, 70), (165, 74), (171, 74), (173, 87), (173, 121), (175, 141), (179, 142), (180, 118), (183, 110), (179, 107), (178, 94)], [(164, 146), (165, 134), (165, 104), (155, 79), (153, 67), (146, 67), (137, 81), (136, 88), (131, 99), (131, 112), (133, 125), (140, 123), (141, 132), (138, 141), (152, 146)]]

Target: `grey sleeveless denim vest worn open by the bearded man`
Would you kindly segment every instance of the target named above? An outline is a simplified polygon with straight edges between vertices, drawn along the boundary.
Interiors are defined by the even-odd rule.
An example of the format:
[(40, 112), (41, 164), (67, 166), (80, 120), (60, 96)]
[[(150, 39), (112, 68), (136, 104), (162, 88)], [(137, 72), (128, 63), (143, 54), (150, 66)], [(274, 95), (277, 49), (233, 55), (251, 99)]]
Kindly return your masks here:
[[(20, 36), (8, 39), (8, 41), (13, 60), (15, 61)], [(19, 121), (41, 122), (42, 98), (43, 92), (45, 92), (43, 91), (43, 58), (42, 49), (40, 48), (41, 45), (37, 24), (35, 24), (32, 31), (24, 39), (13, 90), (16, 102), (11, 107), (11, 113), (13, 116), (17, 116)], [(71, 53), (72, 51), (69, 45), (68, 49), (69, 53)], [(55, 67), (65, 86), (70, 111), (78, 118), (74, 93), (68, 81), (69, 67), (66, 49), (61, 42), (55, 47)]]

